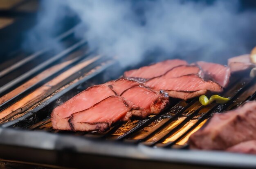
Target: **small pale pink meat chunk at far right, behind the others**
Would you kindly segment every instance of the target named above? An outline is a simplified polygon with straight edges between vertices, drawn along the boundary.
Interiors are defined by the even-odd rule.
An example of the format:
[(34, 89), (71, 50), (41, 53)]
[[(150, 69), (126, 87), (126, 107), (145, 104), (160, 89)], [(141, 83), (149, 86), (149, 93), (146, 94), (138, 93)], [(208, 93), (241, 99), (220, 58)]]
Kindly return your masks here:
[(233, 73), (237, 71), (244, 71), (246, 69), (252, 69), (256, 65), (251, 62), (250, 55), (246, 54), (228, 59), (228, 66), (230, 67), (231, 73)]

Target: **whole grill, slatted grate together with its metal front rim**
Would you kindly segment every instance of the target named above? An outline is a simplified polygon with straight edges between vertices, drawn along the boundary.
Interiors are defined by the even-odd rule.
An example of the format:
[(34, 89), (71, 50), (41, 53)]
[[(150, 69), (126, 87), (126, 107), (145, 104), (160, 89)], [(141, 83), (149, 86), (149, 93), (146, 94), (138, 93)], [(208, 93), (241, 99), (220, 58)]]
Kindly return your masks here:
[[(16, 160), (45, 168), (256, 167), (256, 156), (195, 151), (187, 145), (189, 136), (213, 113), (256, 98), (256, 78), (244, 74), (233, 76), (222, 93), (231, 98), (225, 105), (205, 107), (198, 98), (186, 102), (172, 99), (158, 115), (117, 122), (105, 133), (53, 130), (50, 113), (54, 107), (123, 72), (115, 71), (121, 68), (112, 58), (90, 51), (86, 40), (74, 36), (76, 29), (81, 29), (81, 24), (75, 23), (56, 36), (61, 49), (49, 47), (35, 53), (14, 50), (11, 59), (0, 63), (0, 98), (5, 97), (0, 100), (2, 162)], [(4, 113), (7, 116), (2, 117)]]

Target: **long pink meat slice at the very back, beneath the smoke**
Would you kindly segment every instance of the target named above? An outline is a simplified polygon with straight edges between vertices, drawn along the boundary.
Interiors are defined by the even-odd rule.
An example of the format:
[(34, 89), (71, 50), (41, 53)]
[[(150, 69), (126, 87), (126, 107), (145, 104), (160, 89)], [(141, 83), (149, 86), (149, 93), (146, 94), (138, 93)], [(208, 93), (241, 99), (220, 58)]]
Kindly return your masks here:
[(173, 67), (187, 64), (188, 63), (186, 61), (180, 59), (165, 60), (163, 62), (158, 62), (150, 66), (144, 66), (139, 69), (126, 71), (124, 72), (124, 76), (132, 78), (151, 79), (163, 75)]

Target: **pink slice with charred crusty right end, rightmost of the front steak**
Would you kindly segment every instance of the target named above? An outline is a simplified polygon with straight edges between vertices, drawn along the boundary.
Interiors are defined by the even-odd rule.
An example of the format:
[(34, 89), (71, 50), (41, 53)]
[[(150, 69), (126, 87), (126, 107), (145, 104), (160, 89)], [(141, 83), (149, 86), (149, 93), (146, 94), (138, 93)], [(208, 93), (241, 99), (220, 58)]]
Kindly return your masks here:
[(167, 93), (157, 93), (144, 86), (131, 87), (124, 91), (121, 96), (137, 106), (132, 108), (132, 115), (142, 118), (159, 113), (169, 104)]

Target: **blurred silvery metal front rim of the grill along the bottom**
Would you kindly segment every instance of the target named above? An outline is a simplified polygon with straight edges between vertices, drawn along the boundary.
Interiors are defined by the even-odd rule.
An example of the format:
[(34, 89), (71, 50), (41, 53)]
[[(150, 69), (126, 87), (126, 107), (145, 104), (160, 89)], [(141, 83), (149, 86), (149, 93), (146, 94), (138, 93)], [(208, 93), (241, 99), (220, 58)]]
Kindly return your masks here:
[[(179, 164), (183, 167), (195, 165), (198, 168), (204, 166), (230, 168), (256, 167), (256, 156), (247, 154), (221, 151), (155, 149), (143, 144), (134, 145), (128, 142), (103, 141), (81, 136), (74, 137), (47, 133), (45, 131), (22, 131), (2, 127), (0, 127), (0, 136), (4, 138), (0, 140), (0, 152), (3, 158), (10, 158), (11, 156), (12, 160), (66, 167), (84, 167), (86, 164), (90, 166), (90, 162), (85, 162), (87, 158), (84, 158), (88, 156), (93, 156), (94, 161), (101, 159), (102, 156), (111, 158), (113, 160), (111, 163), (115, 163), (120, 159), (124, 161), (140, 160), (141, 162), (143, 161), (143, 164), (147, 162), (164, 162), (169, 167), (174, 164)], [(83, 158), (85, 160), (84, 163), (79, 162), (81, 160), (79, 158), (72, 158), (71, 156), (74, 154), (76, 154), (76, 158)], [(72, 161), (65, 162), (69, 158)], [(159, 167), (158, 164), (156, 163), (150, 168)]]

